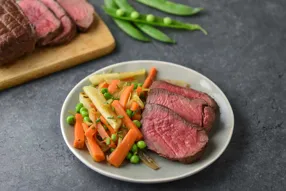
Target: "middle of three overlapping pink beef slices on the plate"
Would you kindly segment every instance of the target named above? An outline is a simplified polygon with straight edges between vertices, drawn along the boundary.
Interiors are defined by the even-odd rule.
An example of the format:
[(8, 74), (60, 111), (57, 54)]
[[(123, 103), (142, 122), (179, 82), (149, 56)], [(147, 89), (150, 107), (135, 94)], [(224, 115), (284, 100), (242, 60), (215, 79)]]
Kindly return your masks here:
[(187, 121), (210, 131), (215, 121), (215, 111), (202, 99), (189, 99), (165, 89), (151, 89), (147, 103), (165, 106)]

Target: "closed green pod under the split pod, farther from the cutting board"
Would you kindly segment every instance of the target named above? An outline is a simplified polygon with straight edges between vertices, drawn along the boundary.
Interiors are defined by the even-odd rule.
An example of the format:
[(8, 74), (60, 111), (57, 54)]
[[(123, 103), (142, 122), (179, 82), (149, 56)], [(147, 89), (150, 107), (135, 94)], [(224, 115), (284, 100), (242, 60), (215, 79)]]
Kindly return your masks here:
[[(117, 4), (117, 6), (122, 9), (123, 11), (128, 11), (131, 12), (131, 17), (133, 14), (137, 15), (137, 11), (128, 3), (127, 0), (115, 0), (115, 3)], [(137, 15), (138, 17), (140, 17), (139, 13)], [(135, 16), (136, 18), (136, 16)], [(147, 35), (151, 36), (152, 38), (161, 41), (161, 42), (166, 42), (166, 43), (175, 43), (174, 40), (172, 40), (170, 37), (168, 37), (165, 33), (163, 33), (162, 31), (156, 29), (153, 26), (147, 25), (147, 24), (142, 24), (142, 23), (134, 23), (135, 26), (137, 26), (141, 31), (143, 31), (144, 33), (146, 33)]]

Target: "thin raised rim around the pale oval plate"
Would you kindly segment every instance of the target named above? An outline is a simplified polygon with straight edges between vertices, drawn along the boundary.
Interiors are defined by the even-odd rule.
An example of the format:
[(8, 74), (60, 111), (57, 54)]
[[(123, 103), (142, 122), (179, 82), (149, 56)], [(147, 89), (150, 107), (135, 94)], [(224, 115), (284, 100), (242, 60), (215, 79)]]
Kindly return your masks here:
[[(76, 89), (78, 88), (78, 86), (80, 86), (80, 84), (82, 84), (84, 81), (86, 81), (91, 75), (95, 74), (95, 73), (100, 73), (100, 72), (103, 72), (103, 71), (106, 71), (106, 70), (110, 70), (114, 67), (119, 67), (121, 65), (127, 65), (127, 64), (138, 64), (140, 62), (156, 62), (156, 63), (160, 63), (160, 64), (166, 64), (166, 65), (171, 65), (171, 66), (174, 66), (174, 67), (179, 67), (181, 69), (184, 69), (184, 70), (188, 70), (190, 72), (194, 72), (200, 76), (202, 76), (202, 78), (206, 79), (207, 81), (209, 81), (210, 83), (212, 83), (213, 86), (215, 86), (220, 94), (222, 95), (223, 99), (224, 99), (224, 102), (228, 105), (228, 107), (230, 108), (231, 110), (231, 124), (230, 124), (230, 128), (231, 128), (231, 131), (230, 131), (230, 134), (228, 135), (227, 137), (227, 140), (226, 140), (226, 144), (225, 146), (221, 149), (221, 151), (215, 156), (213, 157), (213, 159), (205, 164), (202, 164), (202, 166), (200, 168), (198, 168), (197, 170), (194, 170), (192, 172), (188, 172), (188, 173), (184, 173), (182, 175), (179, 175), (179, 176), (175, 176), (175, 177), (168, 177), (168, 178), (156, 178), (156, 179), (151, 179), (151, 180), (140, 180), (140, 179), (136, 179), (136, 178), (128, 178), (128, 177), (124, 177), (124, 176), (121, 176), (121, 175), (116, 175), (116, 174), (112, 174), (108, 171), (104, 171), (104, 170), (101, 170), (101, 169), (98, 169), (96, 167), (94, 167), (93, 165), (89, 164), (89, 162), (87, 162), (78, 152), (75, 152), (75, 149), (70, 146), (68, 144), (68, 139), (67, 139), (67, 136), (66, 134), (64, 133), (64, 123), (65, 123), (65, 120), (64, 120), (64, 110), (65, 108), (67, 107), (67, 102), (68, 100), (71, 99), (72, 95), (74, 94), (74, 92), (76, 91)], [(144, 68), (144, 67), (142, 67)], [(179, 65), (179, 64), (175, 64), (175, 63), (172, 63), (172, 62), (166, 62), (166, 61), (159, 61), (159, 60), (131, 60), (131, 61), (123, 61), (123, 62), (119, 62), (119, 63), (116, 63), (116, 64), (112, 64), (112, 65), (109, 65), (109, 66), (106, 66), (106, 67), (103, 67), (99, 70), (96, 70), (94, 72), (92, 72), (91, 74), (87, 75), (86, 77), (84, 77), (82, 80), (80, 80), (71, 90), (70, 92), (68, 93), (67, 97), (65, 98), (64, 102), (63, 102), (63, 105), (62, 105), (62, 108), (61, 108), (61, 113), (60, 113), (60, 125), (61, 125), (61, 133), (62, 133), (62, 136), (65, 140), (65, 143), (66, 145), (68, 146), (69, 150), (83, 163), (85, 164), (87, 167), (89, 167), (91, 170), (101, 174), (101, 175), (104, 175), (104, 176), (107, 176), (107, 177), (110, 177), (110, 178), (114, 178), (114, 179), (117, 179), (117, 180), (121, 180), (121, 181), (126, 181), (126, 182), (133, 182), (133, 183), (164, 183), (164, 182), (171, 182), (171, 181), (175, 181), (175, 180), (179, 180), (179, 179), (183, 179), (183, 178), (186, 178), (186, 177), (189, 177), (191, 175), (194, 175), (202, 170), (204, 170), (205, 168), (207, 168), (208, 166), (210, 166), (211, 164), (213, 164), (226, 150), (226, 148), (228, 147), (230, 141), (231, 141), (231, 138), (232, 138), (232, 135), (233, 135), (233, 131), (234, 131), (234, 113), (233, 113), (233, 109), (231, 107), (231, 104), (229, 102), (229, 100), (227, 99), (226, 95), (224, 94), (224, 92), (212, 81), (210, 80), (208, 77), (206, 77), (205, 75), (191, 69), (191, 68), (188, 68), (188, 67), (185, 67), (185, 66), (182, 66), (182, 65)]]

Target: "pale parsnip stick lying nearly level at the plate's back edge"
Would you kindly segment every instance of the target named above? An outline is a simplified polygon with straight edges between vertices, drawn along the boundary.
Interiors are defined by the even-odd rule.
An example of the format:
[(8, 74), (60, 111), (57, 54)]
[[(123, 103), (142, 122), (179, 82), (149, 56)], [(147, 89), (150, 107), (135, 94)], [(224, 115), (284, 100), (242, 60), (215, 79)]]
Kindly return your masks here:
[(89, 81), (93, 85), (98, 85), (103, 81), (123, 80), (123, 79), (128, 79), (128, 78), (135, 78), (136, 80), (141, 81), (141, 79), (144, 79), (145, 76), (146, 76), (146, 70), (141, 69), (135, 72), (95, 74), (89, 77)]

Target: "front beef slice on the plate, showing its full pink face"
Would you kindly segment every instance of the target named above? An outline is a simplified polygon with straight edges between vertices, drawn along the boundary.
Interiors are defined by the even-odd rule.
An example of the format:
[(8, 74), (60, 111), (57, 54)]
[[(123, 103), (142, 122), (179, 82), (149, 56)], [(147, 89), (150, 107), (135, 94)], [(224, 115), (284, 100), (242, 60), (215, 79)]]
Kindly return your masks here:
[(149, 149), (183, 163), (191, 163), (201, 157), (208, 143), (203, 128), (157, 104), (147, 104), (142, 117), (142, 133)]

